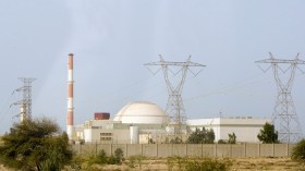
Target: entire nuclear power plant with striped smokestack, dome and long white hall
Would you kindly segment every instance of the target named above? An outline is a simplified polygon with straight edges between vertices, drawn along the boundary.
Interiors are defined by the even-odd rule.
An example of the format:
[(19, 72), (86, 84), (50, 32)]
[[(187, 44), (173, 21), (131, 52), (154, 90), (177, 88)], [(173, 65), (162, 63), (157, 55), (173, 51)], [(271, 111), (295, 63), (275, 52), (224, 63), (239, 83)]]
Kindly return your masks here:
[[(228, 134), (234, 133), (237, 142), (255, 143), (258, 142), (259, 130), (266, 122), (270, 122), (269, 119), (252, 117), (192, 119), (186, 120), (184, 125), (180, 122), (179, 134), (176, 134), (178, 126), (170, 119), (171, 115), (168, 115), (157, 103), (141, 100), (125, 105), (113, 117), (108, 112), (96, 112), (90, 120), (74, 125), (73, 58), (73, 53), (68, 57), (66, 133), (69, 139), (74, 143), (161, 144), (171, 143), (176, 136), (185, 142), (187, 135), (196, 127), (212, 129), (216, 142), (229, 139)], [(186, 64), (190, 64), (190, 58), (187, 62)]]

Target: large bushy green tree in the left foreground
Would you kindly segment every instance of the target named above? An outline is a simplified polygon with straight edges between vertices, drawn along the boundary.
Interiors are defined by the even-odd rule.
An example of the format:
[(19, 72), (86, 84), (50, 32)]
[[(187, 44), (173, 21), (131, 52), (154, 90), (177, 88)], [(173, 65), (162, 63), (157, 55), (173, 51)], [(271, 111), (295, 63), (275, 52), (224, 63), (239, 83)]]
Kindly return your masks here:
[(2, 160), (23, 170), (58, 171), (72, 159), (66, 133), (46, 118), (14, 123), (2, 139)]

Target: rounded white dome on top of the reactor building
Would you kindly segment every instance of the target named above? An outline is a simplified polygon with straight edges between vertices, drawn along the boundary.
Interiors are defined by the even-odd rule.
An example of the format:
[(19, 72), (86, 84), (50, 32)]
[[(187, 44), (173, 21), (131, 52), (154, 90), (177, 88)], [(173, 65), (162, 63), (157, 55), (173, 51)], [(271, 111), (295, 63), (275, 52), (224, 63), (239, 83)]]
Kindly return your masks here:
[(137, 124), (167, 124), (169, 117), (156, 103), (141, 101), (124, 106), (113, 121)]

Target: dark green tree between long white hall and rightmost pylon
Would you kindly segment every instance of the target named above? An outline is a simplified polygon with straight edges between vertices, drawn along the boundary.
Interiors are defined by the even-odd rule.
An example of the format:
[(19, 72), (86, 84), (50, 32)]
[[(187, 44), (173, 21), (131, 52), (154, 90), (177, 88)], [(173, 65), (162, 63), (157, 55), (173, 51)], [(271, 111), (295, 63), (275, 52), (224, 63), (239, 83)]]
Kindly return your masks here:
[(263, 130), (260, 130), (257, 138), (264, 144), (279, 143), (278, 131), (276, 131), (274, 125), (266, 122)]

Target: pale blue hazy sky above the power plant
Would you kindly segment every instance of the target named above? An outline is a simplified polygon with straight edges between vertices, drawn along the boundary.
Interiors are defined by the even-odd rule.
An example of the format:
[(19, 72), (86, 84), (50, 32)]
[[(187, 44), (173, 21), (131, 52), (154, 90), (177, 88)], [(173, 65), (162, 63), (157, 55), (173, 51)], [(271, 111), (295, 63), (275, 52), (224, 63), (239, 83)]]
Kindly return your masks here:
[[(0, 0), (0, 133), (19, 113), (17, 77), (35, 77), (33, 115), (66, 120), (66, 64), (73, 52), (75, 124), (96, 111), (113, 117), (132, 101), (166, 108), (162, 73), (143, 64), (159, 60), (206, 64), (187, 76), (187, 117), (271, 118), (277, 87), (272, 71), (254, 61), (305, 60), (303, 0)], [(305, 75), (292, 90), (305, 132)]]

